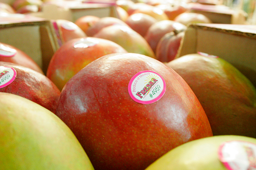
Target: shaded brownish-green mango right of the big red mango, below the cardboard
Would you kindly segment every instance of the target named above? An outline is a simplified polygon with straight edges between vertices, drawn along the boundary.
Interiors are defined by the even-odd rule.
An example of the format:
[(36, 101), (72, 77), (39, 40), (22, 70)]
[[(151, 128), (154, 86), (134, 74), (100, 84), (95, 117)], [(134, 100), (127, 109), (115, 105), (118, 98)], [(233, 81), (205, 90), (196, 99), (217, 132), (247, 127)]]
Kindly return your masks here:
[(220, 57), (188, 54), (166, 64), (198, 97), (213, 135), (256, 138), (256, 89), (241, 72)]

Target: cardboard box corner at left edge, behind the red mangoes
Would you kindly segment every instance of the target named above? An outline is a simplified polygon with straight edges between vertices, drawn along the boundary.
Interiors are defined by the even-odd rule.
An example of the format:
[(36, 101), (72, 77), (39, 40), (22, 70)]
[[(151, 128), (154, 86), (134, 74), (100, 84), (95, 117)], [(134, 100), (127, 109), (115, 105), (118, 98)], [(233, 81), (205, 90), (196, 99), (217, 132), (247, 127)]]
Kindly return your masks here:
[(0, 42), (24, 51), (45, 73), (52, 55), (59, 48), (49, 20), (24, 14), (0, 17)]

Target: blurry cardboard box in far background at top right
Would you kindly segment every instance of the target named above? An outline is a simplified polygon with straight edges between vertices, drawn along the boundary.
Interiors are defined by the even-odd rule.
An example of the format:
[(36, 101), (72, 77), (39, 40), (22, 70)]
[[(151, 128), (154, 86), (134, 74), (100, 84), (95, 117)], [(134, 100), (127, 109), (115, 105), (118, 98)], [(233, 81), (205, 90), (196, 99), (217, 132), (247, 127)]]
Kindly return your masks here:
[(189, 8), (191, 12), (207, 16), (212, 23), (218, 24), (246, 24), (247, 14), (238, 10), (235, 11), (222, 5), (203, 5), (195, 3)]

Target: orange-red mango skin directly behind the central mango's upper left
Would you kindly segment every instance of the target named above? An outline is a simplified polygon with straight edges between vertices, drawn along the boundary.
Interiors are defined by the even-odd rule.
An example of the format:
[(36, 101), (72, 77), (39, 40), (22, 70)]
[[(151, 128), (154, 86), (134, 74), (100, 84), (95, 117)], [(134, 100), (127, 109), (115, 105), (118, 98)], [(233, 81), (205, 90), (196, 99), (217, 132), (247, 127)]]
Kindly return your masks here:
[(52, 56), (46, 75), (60, 91), (71, 77), (93, 60), (107, 54), (127, 53), (115, 42), (94, 37), (84, 39), (88, 38), (97, 40), (99, 43), (87, 48), (74, 48), (73, 44), (81, 40), (81, 38), (75, 38), (61, 45)]

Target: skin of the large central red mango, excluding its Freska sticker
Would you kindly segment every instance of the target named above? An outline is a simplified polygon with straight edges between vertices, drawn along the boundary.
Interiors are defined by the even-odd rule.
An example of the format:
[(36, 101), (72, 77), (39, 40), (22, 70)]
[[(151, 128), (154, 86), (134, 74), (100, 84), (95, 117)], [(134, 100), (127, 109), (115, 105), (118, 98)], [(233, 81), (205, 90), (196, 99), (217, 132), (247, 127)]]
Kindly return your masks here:
[[(166, 92), (144, 105), (129, 96), (128, 83), (145, 70), (165, 79)], [(212, 136), (186, 82), (141, 54), (109, 54), (88, 64), (64, 86), (56, 115), (76, 135), (96, 170), (143, 170), (180, 144)]]

